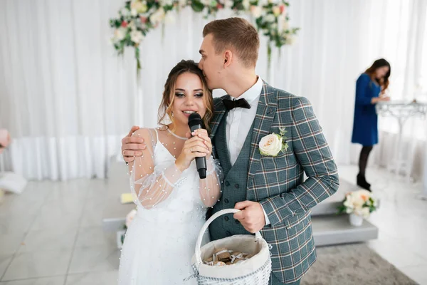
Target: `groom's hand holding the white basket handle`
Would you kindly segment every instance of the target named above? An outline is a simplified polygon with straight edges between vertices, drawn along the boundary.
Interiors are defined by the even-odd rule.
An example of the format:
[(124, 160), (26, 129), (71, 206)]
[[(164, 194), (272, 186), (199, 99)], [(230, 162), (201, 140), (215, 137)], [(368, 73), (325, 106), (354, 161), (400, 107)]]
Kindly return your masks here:
[(234, 209), (241, 210), (241, 212), (234, 214), (233, 217), (238, 219), (248, 232), (254, 234), (265, 226), (263, 206), (260, 203), (252, 201), (238, 202)]

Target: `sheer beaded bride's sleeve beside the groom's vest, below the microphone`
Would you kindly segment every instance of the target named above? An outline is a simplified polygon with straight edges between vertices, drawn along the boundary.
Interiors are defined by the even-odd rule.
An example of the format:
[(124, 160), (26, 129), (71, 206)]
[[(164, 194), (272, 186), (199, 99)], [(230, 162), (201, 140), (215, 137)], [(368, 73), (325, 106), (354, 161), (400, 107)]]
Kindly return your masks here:
[(206, 207), (212, 207), (221, 197), (221, 182), (223, 180), (222, 168), (219, 160), (209, 157), (206, 161), (208, 170), (206, 178), (200, 180), (200, 197)]

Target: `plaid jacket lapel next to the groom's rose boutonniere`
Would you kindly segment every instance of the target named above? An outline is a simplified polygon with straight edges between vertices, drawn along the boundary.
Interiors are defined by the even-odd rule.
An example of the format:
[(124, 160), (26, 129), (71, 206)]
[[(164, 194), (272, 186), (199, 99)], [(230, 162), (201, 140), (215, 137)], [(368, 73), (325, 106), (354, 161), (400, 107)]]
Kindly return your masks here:
[(261, 138), (270, 133), (271, 124), (277, 109), (278, 99), (275, 89), (263, 81), (263, 90), (260, 94), (255, 120), (253, 121), (253, 133), (251, 140), (251, 157), (249, 159), (248, 187), (249, 181), (258, 170), (261, 155), (258, 149)]

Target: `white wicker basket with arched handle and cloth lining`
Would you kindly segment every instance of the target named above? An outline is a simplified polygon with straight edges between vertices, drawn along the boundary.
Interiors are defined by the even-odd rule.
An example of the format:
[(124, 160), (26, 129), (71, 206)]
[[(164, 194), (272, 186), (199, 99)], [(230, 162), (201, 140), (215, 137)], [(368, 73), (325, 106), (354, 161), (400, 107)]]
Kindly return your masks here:
[[(267, 285), (270, 279), (271, 258), (270, 245), (261, 237), (260, 232), (238, 234), (224, 239), (209, 242), (201, 248), (201, 240), (206, 229), (214, 219), (223, 215), (239, 212), (238, 209), (223, 209), (209, 218), (200, 230), (196, 242), (196, 253), (191, 264), (199, 285)], [(216, 249), (226, 248), (233, 251), (253, 254), (253, 257), (238, 264), (210, 266), (203, 264), (202, 259), (211, 257)]]

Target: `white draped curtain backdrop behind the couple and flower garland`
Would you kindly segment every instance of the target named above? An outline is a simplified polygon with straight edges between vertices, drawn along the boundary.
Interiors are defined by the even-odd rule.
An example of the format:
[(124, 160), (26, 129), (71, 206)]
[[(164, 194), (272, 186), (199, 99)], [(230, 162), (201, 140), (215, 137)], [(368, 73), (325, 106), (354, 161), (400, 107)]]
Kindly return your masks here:
[[(36, 180), (103, 178), (132, 125), (157, 125), (167, 74), (183, 58), (199, 60), (201, 31), (211, 19), (184, 9), (165, 25), (164, 36), (162, 28), (152, 31), (141, 46), (138, 88), (133, 50), (117, 58), (109, 43), (108, 21), (124, 3), (0, 1), (0, 126), (13, 137), (0, 171)], [(426, 1), (294, 0), (289, 14), (291, 26), (301, 28), (295, 44), (273, 48), (268, 78), (261, 38), (257, 72), (309, 98), (337, 162), (356, 162), (360, 148), (350, 143), (354, 84), (376, 58), (391, 63), (392, 98), (426, 98)], [(216, 18), (231, 15), (221, 11)], [(397, 128), (388, 118), (380, 123), (381, 142), (370, 162), (386, 165)], [(413, 150), (407, 156), (418, 157), (414, 177), (421, 176), (426, 125), (420, 119), (406, 125)]]

